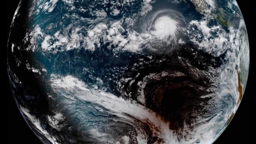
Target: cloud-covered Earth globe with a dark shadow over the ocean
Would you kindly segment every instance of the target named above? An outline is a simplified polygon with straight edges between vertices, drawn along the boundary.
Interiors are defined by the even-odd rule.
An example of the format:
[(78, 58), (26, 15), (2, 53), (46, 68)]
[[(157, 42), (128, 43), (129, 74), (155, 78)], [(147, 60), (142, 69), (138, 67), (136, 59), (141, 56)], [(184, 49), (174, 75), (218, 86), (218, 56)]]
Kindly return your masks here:
[(21, 0), (12, 93), (45, 144), (210, 144), (245, 90), (235, 0)]

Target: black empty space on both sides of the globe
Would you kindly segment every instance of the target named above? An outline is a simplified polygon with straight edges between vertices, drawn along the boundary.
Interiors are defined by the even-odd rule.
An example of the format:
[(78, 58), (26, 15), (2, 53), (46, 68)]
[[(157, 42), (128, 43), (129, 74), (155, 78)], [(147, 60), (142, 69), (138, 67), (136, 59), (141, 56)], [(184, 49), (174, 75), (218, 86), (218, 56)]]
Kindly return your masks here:
[[(6, 32), (3, 34), (6, 41), (3, 42), (2, 46), (4, 50), (6, 50), (8, 31), (14, 12), (18, 6), (18, 2), (19, 0), (6, 0)], [(237, 2), (244, 16), (246, 28), (248, 30), (250, 55), (252, 55), (253, 37), (252, 32), (250, 31), (250, 0), (237, 0)], [(2, 5), (2, 7), (4, 7), (4, 5)], [(6, 51), (2, 52), (1, 54), (6, 60)], [(214, 144), (250, 144), (250, 81), (252, 81), (250, 77), (252, 76), (251, 70), (253, 65), (254, 63), (252, 62), (252, 57), (250, 56), (250, 73), (240, 107), (238, 108), (238, 111), (236, 112), (233, 120), (230, 122), (228, 128), (226, 128), (226, 130), (223, 132), (220, 138), (214, 142)], [(5, 96), (8, 97), (8, 137), (2, 138), (2, 140), (5, 140), (4, 143), (7, 142), (8, 144), (42, 144), (42, 142), (27, 126), (14, 102), (7, 77), (6, 63), (4, 70), (6, 72), (5, 81), (7, 86)]]

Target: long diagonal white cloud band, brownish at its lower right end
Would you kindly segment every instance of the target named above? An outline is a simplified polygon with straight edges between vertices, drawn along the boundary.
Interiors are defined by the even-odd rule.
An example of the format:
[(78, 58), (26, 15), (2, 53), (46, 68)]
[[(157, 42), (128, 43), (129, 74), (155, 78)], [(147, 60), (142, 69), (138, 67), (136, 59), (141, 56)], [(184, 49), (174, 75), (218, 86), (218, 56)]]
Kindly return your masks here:
[[(130, 116), (134, 116), (142, 121), (149, 122), (154, 136), (162, 138), (166, 143), (177, 143), (176, 136), (169, 129), (169, 123), (162, 121), (152, 110), (134, 101), (124, 100), (107, 92), (90, 90), (84, 82), (73, 76), (53, 77), (51, 86), (53, 86), (52, 88), (56, 94), (61, 92), (59, 89), (64, 88), (65, 92), (72, 94), (76, 99), (99, 104), (119, 118), (125, 118), (133, 122)], [(127, 114), (130, 116), (127, 116)]]

